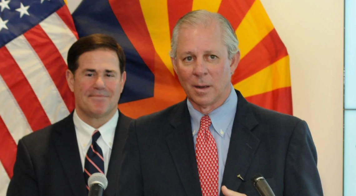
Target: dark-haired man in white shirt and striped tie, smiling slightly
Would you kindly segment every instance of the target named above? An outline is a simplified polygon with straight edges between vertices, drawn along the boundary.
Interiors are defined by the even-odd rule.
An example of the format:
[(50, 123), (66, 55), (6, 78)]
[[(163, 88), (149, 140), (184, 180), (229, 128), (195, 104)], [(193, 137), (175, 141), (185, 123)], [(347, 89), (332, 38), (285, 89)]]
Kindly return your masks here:
[(131, 122), (117, 109), (126, 81), (125, 61), (110, 36), (82, 37), (70, 47), (66, 77), (75, 109), (19, 140), (7, 196), (85, 196), (87, 180), (95, 172), (108, 178), (104, 195), (115, 195)]

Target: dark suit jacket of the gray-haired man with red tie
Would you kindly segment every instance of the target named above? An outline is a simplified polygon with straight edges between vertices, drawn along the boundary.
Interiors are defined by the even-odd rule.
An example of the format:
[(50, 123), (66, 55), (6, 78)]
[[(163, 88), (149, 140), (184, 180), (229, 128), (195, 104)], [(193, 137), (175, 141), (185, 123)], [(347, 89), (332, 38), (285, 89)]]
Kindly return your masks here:
[[(248, 103), (236, 93), (222, 185), (259, 196), (251, 181), (237, 175), (249, 180), (260, 173), (276, 196), (323, 195), (307, 123)], [(186, 100), (132, 121), (117, 188), (117, 196), (201, 196)]]

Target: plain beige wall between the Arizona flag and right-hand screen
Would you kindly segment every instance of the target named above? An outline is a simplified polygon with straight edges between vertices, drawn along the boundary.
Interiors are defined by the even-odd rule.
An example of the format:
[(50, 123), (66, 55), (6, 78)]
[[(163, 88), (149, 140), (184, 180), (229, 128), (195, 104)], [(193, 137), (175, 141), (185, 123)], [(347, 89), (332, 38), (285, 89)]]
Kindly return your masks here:
[(325, 196), (342, 195), (343, 0), (261, 0), (290, 56), (294, 115), (307, 121)]

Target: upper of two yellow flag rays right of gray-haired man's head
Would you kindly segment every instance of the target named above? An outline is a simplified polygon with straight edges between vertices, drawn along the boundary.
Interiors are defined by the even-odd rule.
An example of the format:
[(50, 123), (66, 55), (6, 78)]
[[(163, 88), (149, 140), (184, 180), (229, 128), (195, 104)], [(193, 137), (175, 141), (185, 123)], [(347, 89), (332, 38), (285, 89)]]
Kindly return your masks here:
[(274, 29), (260, 0), (256, 0), (237, 27), (241, 59)]

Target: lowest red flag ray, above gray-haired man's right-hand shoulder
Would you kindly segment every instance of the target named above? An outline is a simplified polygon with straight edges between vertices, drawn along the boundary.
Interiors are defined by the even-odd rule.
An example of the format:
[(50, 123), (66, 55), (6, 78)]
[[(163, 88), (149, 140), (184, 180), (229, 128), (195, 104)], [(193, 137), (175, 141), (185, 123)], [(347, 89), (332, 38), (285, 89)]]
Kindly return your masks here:
[(291, 87), (279, 88), (274, 91), (246, 97), (246, 100), (263, 108), (293, 115)]

